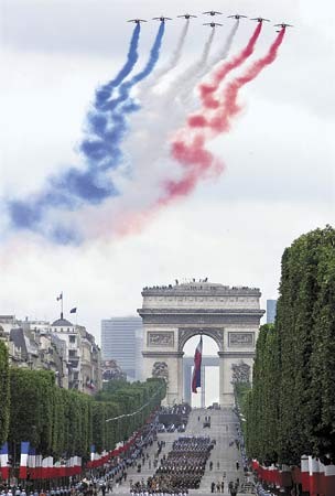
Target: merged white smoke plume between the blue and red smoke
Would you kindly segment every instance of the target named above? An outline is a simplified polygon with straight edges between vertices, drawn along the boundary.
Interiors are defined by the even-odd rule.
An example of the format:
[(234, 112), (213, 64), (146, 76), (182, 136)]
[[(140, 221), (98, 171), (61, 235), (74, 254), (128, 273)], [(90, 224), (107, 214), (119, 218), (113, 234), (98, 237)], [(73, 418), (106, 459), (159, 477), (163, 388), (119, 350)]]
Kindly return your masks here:
[(120, 196), (107, 201), (98, 209), (88, 206), (80, 215), (72, 214), (69, 222), (84, 226), (84, 235), (109, 238), (120, 231), (122, 225), (136, 231), (143, 222), (147, 223), (152, 205), (161, 194), (162, 182), (180, 176), (179, 165), (170, 160), (170, 133), (183, 125), (190, 103), (177, 98), (180, 91), (186, 88), (190, 75), (196, 74), (192, 85), (187, 85), (193, 90), (202, 75), (228, 55), (237, 29), (238, 23), (234, 25), (221, 50), (208, 61), (213, 30), (199, 61), (188, 67), (182, 77), (177, 77), (177, 84), (173, 82), (172, 88), (161, 95), (152, 93), (142, 110), (133, 116), (132, 132), (123, 149), (131, 163), (131, 173), (125, 177), (125, 170), (119, 170), (116, 172), (118, 177), (114, 176)]

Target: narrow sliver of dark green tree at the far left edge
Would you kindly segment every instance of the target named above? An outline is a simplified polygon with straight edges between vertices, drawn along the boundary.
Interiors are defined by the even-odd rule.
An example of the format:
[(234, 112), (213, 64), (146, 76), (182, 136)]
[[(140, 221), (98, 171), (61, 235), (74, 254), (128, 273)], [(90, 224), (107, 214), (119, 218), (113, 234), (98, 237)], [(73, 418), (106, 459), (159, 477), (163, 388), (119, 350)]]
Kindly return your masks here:
[(8, 351), (0, 341), (0, 446), (6, 442), (10, 418)]

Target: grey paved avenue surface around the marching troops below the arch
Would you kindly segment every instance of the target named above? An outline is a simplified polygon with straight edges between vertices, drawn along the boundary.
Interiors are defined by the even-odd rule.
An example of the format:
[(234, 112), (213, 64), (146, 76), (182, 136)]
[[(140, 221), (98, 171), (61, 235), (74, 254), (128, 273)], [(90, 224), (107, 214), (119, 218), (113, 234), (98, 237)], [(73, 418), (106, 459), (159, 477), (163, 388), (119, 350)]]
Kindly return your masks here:
[[(210, 416), (210, 428), (204, 428), (205, 417)], [(172, 450), (172, 443), (181, 435), (209, 435), (210, 439), (216, 440), (216, 445), (210, 452), (210, 457), (206, 465), (205, 475), (202, 478), (199, 489), (190, 489), (190, 495), (208, 495), (210, 494), (210, 485), (214, 482), (217, 484), (225, 481), (225, 495), (228, 495), (228, 483), (235, 482), (239, 478), (240, 483), (245, 482), (242, 463), (240, 453), (236, 446), (235, 439), (237, 438), (237, 419), (231, 408), (221, 410), (205, 410), (195, 409), (190, 413), (187, 429), (185, 434), (180, 433), (163, 433), (158, 434), (158, 441), (165, 441), (160, 457), (168, 454)], [(229, 445), (233, 444), (233, 445)], [(142, 466), (141, 473), (137, 473), (137, 468), (128, 470), (127, 481), (118, 487), (114, 487), (114, 494), (129, 494), (130, 482), (147, 481), (149, 476), (154, 474), (153, 460), (158, 450), (158, 442), (147, 451), (149, 460)], [(150, 462), (149, 462), (150, 461)], [(210, 462), (213, 468), (210, 470)], [(239, 470), (236, 470), (236, 462), (239, 463)]]

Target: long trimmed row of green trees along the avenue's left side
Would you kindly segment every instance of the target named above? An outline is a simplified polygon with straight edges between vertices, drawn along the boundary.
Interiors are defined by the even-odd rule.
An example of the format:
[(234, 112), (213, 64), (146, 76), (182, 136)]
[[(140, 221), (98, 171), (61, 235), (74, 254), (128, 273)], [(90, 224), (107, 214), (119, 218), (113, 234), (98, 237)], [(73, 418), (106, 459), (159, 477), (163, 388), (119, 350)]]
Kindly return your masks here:
[(13, 450), (29, 441), (39, 453), (55, 457), (87, 460), (90, 444), (97, 452), (112, 450), (143, 424), (166, 392), (162, 379), (120, 381), (114, 390), (90, 397), (58, 388), (46, 370), (11, 368), (9, 378), (7, 396), (2, 380), (0, 385), (1, 441), (8, 440)]

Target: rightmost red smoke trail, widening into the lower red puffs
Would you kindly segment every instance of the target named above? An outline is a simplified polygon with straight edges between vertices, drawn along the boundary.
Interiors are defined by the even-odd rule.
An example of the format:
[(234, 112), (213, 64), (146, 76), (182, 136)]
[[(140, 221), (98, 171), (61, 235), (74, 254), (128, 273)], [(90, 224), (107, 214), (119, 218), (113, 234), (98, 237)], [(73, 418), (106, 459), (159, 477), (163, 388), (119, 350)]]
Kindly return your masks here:
[[(188, 128), (182, 130), (180, 138), (172, 143), (171, 150), (173, 159), (183, 166), (184, 175), (181, 180), (165, 182), (164, 195), (158, 201), (156, 206), (162, 206), (179, 196), (190, 194), (201, 179), (210, 174), (219, 175), (224, 170), (224, 164), (205, 148), (208, 139), (205, 131), (209, 128), (212, 130), (210, 138), (214, 138), (220, 132), (229, 130), (230, 119), (240, 111), (237, 104), (240, 88), (274, 62), (284, 33), (285, 30), (282, 29), (267, 55), (251, 64), (242, 76), (228, 84), (223, 94), (224, 98), (219, 100), (220, 106), (212, 119), (207, 120), (202, 115), (188, 119)], [(192, 134), (194, 128), (199, 128), (195, 136)]]

